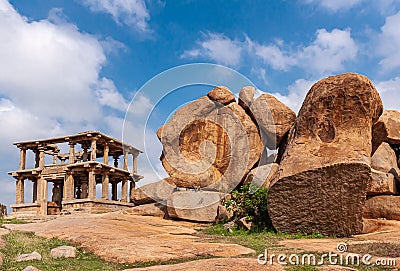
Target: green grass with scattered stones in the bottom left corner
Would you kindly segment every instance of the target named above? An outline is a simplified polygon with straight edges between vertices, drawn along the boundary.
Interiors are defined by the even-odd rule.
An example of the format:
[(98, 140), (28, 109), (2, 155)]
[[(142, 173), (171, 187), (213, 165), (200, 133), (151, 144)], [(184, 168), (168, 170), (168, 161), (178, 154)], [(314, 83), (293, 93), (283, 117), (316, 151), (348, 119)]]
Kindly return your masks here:
[[(28, 265), (39, 268), (43, 271), (91, 271), (91, 270), (123, 270), (134, 267), (131, 264), (109, 263), (97, 257), (93, 253), (87, 253), (77, 249), (75, 259), (52, 259), (50, 250), (58, 246), (69, 245), (67, 242), (58, 239), (45, 239), (35, 236), (33, 233), (11, 232), (4, 236), (7, 241), (5, 248), (0, 249), (4, 254), (5, 261), (1, 270), (17, 271)], [(42, 261), (15, 262), (20, 254), (37, 251), (42, 255)]]

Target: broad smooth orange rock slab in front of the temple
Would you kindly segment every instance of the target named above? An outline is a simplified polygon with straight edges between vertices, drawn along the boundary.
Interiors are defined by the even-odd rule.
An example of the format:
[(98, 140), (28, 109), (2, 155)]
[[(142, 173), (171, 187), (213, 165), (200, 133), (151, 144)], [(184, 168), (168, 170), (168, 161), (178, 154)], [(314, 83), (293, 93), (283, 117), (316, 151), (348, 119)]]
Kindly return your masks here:
[(7, 225), (37, 236), (79, 244), (106, 260), (134, 263), (199, 256), (239, 257), (254, 253), (236, 244), (211, 243), (195, 235), (198, 224), (121, 213), (58, 217), (44, 223)]

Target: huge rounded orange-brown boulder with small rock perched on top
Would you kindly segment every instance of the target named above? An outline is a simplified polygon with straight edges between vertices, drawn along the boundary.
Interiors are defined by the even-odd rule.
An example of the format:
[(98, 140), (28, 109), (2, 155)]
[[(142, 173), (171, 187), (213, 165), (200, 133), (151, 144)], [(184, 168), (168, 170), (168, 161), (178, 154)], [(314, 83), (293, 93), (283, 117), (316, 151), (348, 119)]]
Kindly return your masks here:
[[(214, 92), (209, 97), (219, 102), (229, 96)], [(219, 102), (200, 98), (178, 109), (157, 132), (162, 164), (179, 187), (230, 192), (260, 159), (257, 126), (237, 103)]]

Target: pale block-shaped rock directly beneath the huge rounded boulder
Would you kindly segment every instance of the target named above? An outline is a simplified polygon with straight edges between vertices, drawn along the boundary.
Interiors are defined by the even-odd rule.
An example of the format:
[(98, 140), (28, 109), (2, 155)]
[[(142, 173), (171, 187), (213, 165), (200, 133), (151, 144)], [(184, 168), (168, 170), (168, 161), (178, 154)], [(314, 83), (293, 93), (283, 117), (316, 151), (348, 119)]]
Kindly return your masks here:
[(168, 216), (197, 222), (215, 222), (223, 194), (213, 191), (179, 191), (167, 201)]

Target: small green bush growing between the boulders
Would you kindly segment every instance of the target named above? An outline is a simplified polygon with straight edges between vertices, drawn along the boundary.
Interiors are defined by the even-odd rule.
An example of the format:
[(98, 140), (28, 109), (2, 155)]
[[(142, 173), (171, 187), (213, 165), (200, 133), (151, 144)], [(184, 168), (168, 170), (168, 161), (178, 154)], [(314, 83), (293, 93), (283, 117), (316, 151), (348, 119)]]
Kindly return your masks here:
[(225, 205), (233, 212), (233, 221), (237, 222), (245, 217), (248, 222), (252, 222), (254, 231), (263, 231), (273, 228), (267, 210), (267, 196), (267, 188), (248, 183), (234, 190)]

